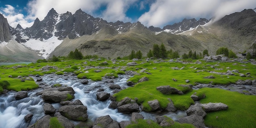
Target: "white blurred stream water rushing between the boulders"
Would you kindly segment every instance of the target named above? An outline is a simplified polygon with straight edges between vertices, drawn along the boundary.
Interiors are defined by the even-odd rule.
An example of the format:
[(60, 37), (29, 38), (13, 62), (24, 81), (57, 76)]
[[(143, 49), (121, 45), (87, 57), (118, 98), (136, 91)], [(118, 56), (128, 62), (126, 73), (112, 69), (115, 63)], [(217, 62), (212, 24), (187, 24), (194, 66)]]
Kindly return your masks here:
[[(37, 79), (37, 78), (34, 78)], [(118, 84), (122, 89), (128, 88), (126, 81), (129, 79), (127, 75), (120, 75), (117, 79), (112, 79), (113, 84)], [(48, 74), (43, 76), (43, 82), (45, 85), (53, 85), (60, 83), (62, 85), (70, 86), (76, 92), (74, 94), (75, 99), (79, 99), (84, 106), (87, 107), (88, 119), (95, 121), (97, 117), (110, 115), (113, 120), (125, 121), (130, 120), (131, 114), (124, 114), (118, 112), (117, 109), (108, 108), (111, 103), (110, 100), (98, 101), (96, 97), (97, 90), (103, 88), (105, 92), (114, 94), (113, 90), (108, 88), (110, 83), (104, 81), (90, 81), (87, 85), (81, 84), (81, 80), (76, 79), (75, 76), (56, 76)], [(108, 80), (106, 80), (108, 81)], [(15, 99), (16, 92), (8, 92), (8, 94), (0, 95), (0, 128), (27, 128), (27, 126), (36, 123), (37, 120), (45, 116), (43, 112), (43, 104), (45, 103), (41, 96), (36, 96), (36, 92), (40, 92), (43, 89), (29, 91), (28, 97), (20, 100)], [(54, 108), (61, 107), (59, 103), (52, 103)], [(33, 114), (30, 123), (26, 123), (24, 117), (27, 114)], [(176, 120), (179, 117), (186, 116), (186, 111), (177, 112), (140, 112), (144, 119), (155, 119), (156, 115), (166, 115)], [(74, 124), (78, 124), (78, 121), (72, 121)]]

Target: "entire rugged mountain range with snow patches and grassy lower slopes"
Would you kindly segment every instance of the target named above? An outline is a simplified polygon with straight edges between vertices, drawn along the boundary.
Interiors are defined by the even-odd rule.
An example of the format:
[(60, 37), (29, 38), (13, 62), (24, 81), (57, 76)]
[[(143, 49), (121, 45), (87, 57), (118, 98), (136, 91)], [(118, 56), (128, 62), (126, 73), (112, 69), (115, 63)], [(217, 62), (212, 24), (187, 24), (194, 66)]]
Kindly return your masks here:
[(58, 14), (51, 9), (28, 28), (9, 26), (0, 14), (0, 62), (36, 61), (51, 56), (67, 56), (79, 49), (83, 55), (116, 58), (128, 56), (132, 50), (146, 56), (154, 44), (180, 54), (189, 50), (208, 49), (215, 54), (219, 47), (235, 53), (250, 50), (256, 43), (256, 12), (245, 9), (218, 21), (200, 18), (184, 19), (173, 25), (145, 27), (140, 22), (107, 22), (83, 12)]

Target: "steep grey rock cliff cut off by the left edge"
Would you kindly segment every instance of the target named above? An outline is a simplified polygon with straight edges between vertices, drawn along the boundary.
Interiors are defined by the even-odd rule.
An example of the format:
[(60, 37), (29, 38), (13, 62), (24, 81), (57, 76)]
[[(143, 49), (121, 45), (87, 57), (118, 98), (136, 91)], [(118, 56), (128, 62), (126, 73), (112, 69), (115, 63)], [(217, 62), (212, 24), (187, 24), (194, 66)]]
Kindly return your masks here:
[(7, 22), (7, 19), (4, 18), (2, 14), (0, 14), (0, 43), (8, 42), (9, 40), (11, 40), (10, 26)]

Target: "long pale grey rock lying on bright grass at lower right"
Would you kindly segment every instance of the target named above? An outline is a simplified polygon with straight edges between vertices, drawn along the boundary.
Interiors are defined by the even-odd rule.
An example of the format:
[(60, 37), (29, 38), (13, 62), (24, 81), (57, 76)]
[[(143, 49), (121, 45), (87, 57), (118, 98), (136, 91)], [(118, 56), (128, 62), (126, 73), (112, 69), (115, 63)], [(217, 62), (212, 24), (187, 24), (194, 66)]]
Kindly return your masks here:
[(218, 111), (218, 110), (226, 110), (229, 107), (224, 103), (203, 103), (202, 106), (204, 107), (205, 112), (209, 111)]

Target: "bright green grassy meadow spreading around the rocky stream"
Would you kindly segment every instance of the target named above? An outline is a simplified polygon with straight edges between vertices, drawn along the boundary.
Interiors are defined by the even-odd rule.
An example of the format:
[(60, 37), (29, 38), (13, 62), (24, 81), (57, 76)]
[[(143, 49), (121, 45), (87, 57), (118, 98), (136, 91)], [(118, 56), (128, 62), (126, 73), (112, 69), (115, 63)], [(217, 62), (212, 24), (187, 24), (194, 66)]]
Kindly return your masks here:
[[(106, 61), (106, 62), (105, 62)], [(127, 66), (132, 60), (117, 60), (115, 63), (108, 59), (94, 60), (62, 60), (61, 62), (42, 62), (30, 64), (14, 64), (0, 65), (0, 92), (3, 89), (7, 90), (33, 90), (38, 88), (31, 75), (55, 74), (62, 75), (65, 72), (73, 72), (79, 79), (87, 78), (93, 81), (101, 81), (104, 76), (118, 77), (118, 74), (124, 74), (125, 71), (135, 71), (136, 75), (131, 76), (128, 81), (137, 83), (139, 79), (146, 76), (148, 81), (137, 83), (133, 87), (121, 90), (114, 94), (117, 101), (125, 97), (138, 99), (137, 103), (144, 106), (145, 111), (150, 111), (147, 101), (157, 99), (162, 109), (166, 108), (171, 99), (174, 106), (179, 110), (186, 110), (190, 105), (195, 104), (191, 99), (191, 94), (197, 92), (198, 95), (205, 94), (206, 98), (201, 99), (200, 103), (225, 103), (229, 106), (227, 110), (208, 112), (204, 118), (205, 124), (212, 128), (254, 128), (256, 127), (256, 96), (245, 95), (238, 92), (216, 88), (201, 88), (199, 90), (189, 90), (181, 85), (196, 85), (198, 83), (211, 83), (213, 85), (227, 85), (236, 83), (236, 81), (256, 79), (256, 65), (251, 63), (240, 62), (205, 62), (197, 64), (195, 61), (186, 63), (176, 63), (141, 59), (135, 61), (138, 65)], [(44, 66), (49, 66), (49, 70), (40, 70)], [(213, 67), (214, 68), (213, 68)], [(183, 68), (182, 70), (174, 70), (172, 67)], [(99, 72), (99, 70), (101, 70)], [(141, 72), (144, 70), (144, 72)], [(240, 77), (238, 73), (233, 72), (234, 76), (213, 74), (214, 72), (227, 72), (227, 70), (238, 70), (239, 73), (246, 74), (250, 72), (251, 77)], [(8, 76), (12, 77), (8, 77)], [(22, 76), (22, 78), (17, 78)], [(204, 79), (206, 76), (214, 76), (215, 79)], [(30, 80), (26, 79), (29, 78)], [(22, 82), (20, 79), (26, 79)], [(176, 79), (177, 81), (173, 81)], [(189, 80), (189, 83), (186, 83)], [(9, 83), (9, 85), (8, 85)], [(184, 92), (183, 95), (178, 94), (162, 94), (156, 88), (162, 85), (170, 85)], [(216, 118), (218, 117), (218, 118)], [(132, 124), (134, 127), (146, 125), (144, 121), (139, 121), (138, 124)], [(178, 126), (191, 128), (190, 125)], [(155, 124), (152, 124), (155, 126)], [(156, 126), (157, 127), (157, 126)], [(132, 128), (129, 127), (129, 128)], [(170, 127), (171, 128), (171, 127)]]

